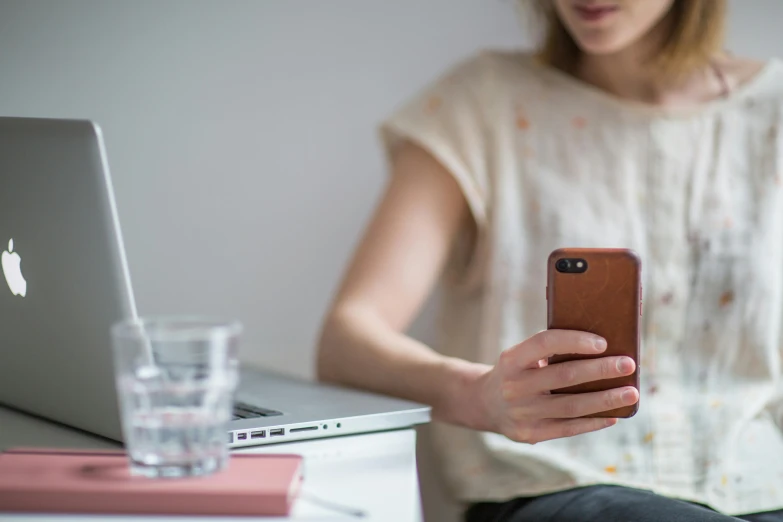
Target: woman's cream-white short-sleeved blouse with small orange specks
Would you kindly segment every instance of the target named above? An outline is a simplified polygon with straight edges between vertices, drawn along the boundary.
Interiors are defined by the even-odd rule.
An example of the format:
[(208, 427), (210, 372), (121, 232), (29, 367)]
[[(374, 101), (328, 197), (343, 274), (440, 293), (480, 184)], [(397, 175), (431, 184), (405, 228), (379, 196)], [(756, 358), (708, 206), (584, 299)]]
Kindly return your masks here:
[(546, 328), (546, 260), (643, 262), (639, 412), (536, 445), (431, 428), (465, 502), (620, 484), (728, 514), (783, 508), (783, 64), (672, 110), (620, 100), (523, 53), (483, 52), (381, 127), (429, 150), (478, 223), (441, 305), (448, 355), (494, 364)]

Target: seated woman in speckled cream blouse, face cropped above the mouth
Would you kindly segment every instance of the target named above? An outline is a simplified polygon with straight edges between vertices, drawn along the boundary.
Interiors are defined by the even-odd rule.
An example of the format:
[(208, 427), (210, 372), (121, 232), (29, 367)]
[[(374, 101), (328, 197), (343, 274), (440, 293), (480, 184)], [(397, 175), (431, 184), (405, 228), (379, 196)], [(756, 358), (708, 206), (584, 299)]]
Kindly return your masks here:
[[(432, 405), (470, 521), (783, 520), (783, 65), (722, 52), (723, 0), (538, 7), (540, 53), (471, 57), (385, 122), (319, 375)], [(639, 390), (549, 394), (635, 371), (539, 363), (605, 349), (540, 333), (558, 247), (640, 253)], [(436, 351), (403, 332), (441, 274)]]

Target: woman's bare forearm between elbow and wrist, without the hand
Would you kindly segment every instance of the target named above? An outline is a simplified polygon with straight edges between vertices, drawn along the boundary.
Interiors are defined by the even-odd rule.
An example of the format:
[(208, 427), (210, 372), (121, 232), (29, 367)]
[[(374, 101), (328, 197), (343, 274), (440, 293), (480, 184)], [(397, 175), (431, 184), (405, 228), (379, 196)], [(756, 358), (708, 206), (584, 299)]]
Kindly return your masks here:
[(319, 379), (428, 404), (434, 419), (474, 429), (485, 421), (473, 383), (489, 368), (441, 355), (358, 306), (330, 314), (318, 347)]

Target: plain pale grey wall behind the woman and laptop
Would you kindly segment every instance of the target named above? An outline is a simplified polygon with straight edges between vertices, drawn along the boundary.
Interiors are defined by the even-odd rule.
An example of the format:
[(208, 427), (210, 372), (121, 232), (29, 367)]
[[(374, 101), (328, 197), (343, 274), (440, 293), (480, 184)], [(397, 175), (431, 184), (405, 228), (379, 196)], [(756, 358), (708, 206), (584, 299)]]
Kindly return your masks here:
[[(783, 53), (783, 2), (731, 8), (732, 51)], [(239, 318), (245, 361), (311, 377), (387, 176), (378, 123), (528, 29), (511, 0), (0, 0), (0, 114), (102, 126), (142, 314)]]

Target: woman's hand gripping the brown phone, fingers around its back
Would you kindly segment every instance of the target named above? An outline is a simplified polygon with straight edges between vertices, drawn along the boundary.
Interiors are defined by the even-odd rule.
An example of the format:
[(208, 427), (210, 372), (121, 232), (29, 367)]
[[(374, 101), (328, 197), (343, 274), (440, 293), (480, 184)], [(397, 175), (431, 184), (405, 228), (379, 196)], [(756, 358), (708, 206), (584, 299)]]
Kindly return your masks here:
[(632, 386), (602, 392), (551, 394), (551, 390), (630, 375), (629, 357), (600, 357), (547, 365), (556, 354), (597, 355), (606, 341), (576, 331), (547, 330), (503, 352), (498, 363), (474, 381), (485, 427), (517, 442), (535, 444), (573, 437), (617, 423), (617, 419), (579, 418), (635, 404)]

